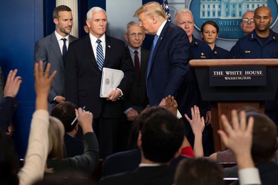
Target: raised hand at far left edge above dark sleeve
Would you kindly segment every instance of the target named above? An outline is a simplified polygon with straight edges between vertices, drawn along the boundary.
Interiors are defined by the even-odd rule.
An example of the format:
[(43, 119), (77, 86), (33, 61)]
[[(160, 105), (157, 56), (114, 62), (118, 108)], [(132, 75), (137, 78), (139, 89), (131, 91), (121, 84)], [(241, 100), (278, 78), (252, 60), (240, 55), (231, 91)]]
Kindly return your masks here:
[(4, 88), (4, 97), (16, 97), (19, 87), (22, 84), (22, 78), (20, 76), (15, 77), (17, 69), (10, 71), (7, 77), (6, 86)]

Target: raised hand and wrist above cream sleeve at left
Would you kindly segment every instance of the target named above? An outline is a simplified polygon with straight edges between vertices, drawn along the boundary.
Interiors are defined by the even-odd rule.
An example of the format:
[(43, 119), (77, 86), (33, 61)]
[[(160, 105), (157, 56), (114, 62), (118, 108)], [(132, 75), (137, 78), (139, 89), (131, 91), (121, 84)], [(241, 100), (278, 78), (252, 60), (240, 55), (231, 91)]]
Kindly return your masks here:
[(47, 110), (47, 96), (50, 90), (51, 82), (54, 79), (57, 71), (55, 70), (50, 77), (50, 63), (46, 65), (45, 72), (43, 72), (43, 61), (40, 60), (39, 64), (34, 66), (34, 78), (35, 78), (35, 92), (36, 92), (36, 110)]

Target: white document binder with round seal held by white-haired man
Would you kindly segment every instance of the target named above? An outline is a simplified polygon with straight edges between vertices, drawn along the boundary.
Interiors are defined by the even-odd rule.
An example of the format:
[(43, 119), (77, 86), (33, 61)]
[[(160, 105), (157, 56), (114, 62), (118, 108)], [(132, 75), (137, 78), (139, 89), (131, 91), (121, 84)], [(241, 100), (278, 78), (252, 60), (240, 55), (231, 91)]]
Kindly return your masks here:
[(122, 78), (124, 73), (121, 70), (103, 68), (102, 79), (100, 86), (100, 97), (105, 98), (112, 90), (115, 90)]

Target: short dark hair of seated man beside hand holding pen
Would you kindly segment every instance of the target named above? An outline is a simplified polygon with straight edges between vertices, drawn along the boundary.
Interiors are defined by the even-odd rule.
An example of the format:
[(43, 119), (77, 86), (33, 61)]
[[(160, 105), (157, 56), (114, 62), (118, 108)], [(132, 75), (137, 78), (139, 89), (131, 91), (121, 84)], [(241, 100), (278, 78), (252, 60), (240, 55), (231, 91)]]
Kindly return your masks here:
[(70, 101), (65, 101), (57, 104), (51, 111), (51, 116), (58, 118), (65, 127), (65, 132), (71, 132), (75, 125), (77, 124), (77, 120), (71, 125), (72, 121), (75, 119), (75, 111), (77, 109), (76, 105), (74, 105)]

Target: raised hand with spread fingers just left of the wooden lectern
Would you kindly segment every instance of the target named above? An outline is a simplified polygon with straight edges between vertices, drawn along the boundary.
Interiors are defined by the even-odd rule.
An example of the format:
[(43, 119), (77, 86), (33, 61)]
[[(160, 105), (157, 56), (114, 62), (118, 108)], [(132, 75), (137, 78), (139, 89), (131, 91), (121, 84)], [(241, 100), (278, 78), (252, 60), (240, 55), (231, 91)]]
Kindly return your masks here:
[(204, 117), (201, 118), (200, 116), (200, 110), (199, 107), (194, 106), (191, 107), (191, 115), (192, 115), (192, 120), (186, 115), (184, 114), (185, 118), (187, 119), (187, 121), (189, 122), (193, 134), (202, 134), (204, 127), (205, 127), (205, 121), (204, 121)]

